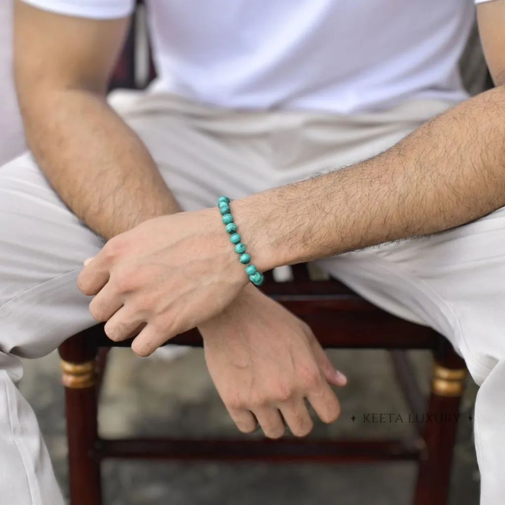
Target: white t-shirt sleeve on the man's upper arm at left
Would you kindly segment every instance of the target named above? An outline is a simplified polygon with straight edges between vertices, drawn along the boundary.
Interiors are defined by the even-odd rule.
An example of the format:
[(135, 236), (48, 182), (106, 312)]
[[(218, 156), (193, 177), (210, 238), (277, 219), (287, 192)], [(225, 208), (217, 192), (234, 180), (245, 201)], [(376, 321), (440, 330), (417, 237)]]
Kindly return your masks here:
[[(1, 0), (0, 0), (1, 1)], [(135, 0), (22, 0), (44, 11), (91, 19), (117, 19), (129, 16)]]

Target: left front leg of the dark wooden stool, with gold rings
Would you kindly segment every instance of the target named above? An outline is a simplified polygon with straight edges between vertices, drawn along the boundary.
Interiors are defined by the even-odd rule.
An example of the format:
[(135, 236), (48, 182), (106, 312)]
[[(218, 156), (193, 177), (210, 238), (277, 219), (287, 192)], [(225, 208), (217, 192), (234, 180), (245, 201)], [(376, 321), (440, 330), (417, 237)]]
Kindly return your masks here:
[(80, 334), (60, 346), (65, 386), (70, 505), (102, 505), (100, 463), (94, 458), (97, 433), (97, 348)]

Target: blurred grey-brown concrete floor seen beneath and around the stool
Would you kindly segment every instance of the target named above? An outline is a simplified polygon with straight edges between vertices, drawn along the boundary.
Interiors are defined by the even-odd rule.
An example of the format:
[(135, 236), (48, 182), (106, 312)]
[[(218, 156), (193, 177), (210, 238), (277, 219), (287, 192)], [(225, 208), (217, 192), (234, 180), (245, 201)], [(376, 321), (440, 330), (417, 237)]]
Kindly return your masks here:
[[(430, 358), (413, 353), (428, 385)], [(330, 351), (347, 374), (339, 391), (342, 415), (332, 426), (316, 424), (314, 435), (381, 437), (408, 435), (408, 423), (367, 424), (364, 413), (409, 409), (382, 351)], [(58, 479), (67, 492), (67, 447), (63, 391), (56, 354), (28, 362), (21, 389), (35, 409)], [(476, 387), (469, 382), (452, 478), (450, 505), (477, 505), (479, 473), (472, 441)], [(115, 349), (100, 402), (104, 435), (236, 435), (207, 373), (203, 352), (194, 349), (173, 363), (136, 358)], [(352, 415), (358, 418), (352, 422)], [(361, 416), (361, 421), (360, 421)], [(410, 463), (373, 465), (205, 464), (109, 462), (104, 466), (106, 505), (408, 505), (415, 479)], [(90, 504), (91, 505), (91, 504)]]

